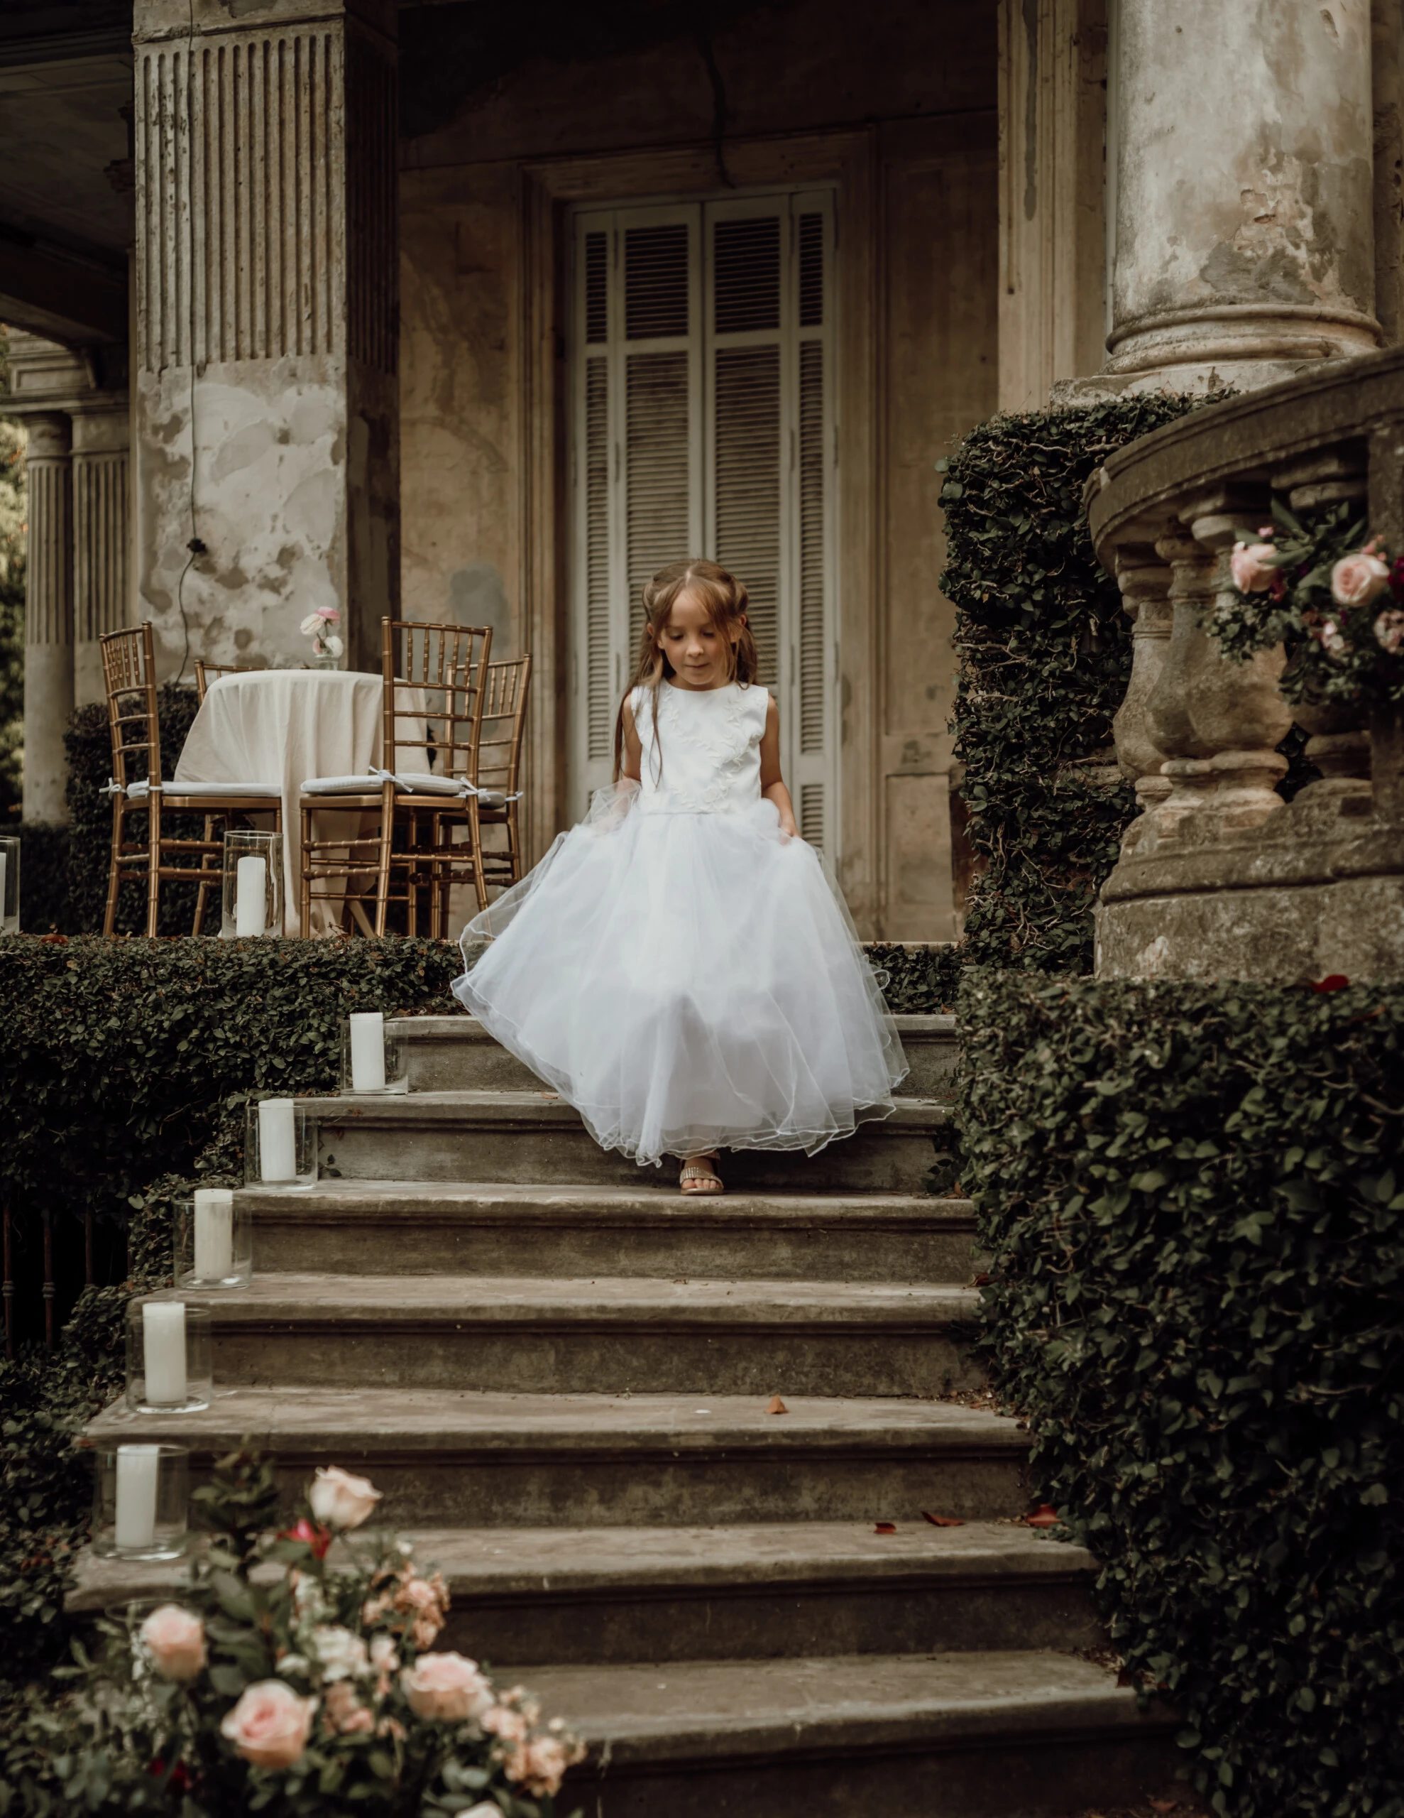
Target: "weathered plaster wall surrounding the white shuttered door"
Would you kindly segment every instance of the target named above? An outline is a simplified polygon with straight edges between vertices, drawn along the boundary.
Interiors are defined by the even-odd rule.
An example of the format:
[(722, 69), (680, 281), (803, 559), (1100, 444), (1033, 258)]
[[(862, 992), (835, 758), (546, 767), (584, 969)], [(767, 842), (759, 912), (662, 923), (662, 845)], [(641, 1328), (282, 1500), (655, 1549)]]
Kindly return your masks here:
[[(874, 324), (865, 425), (848, 425), (846, 458), (863, 458), (866, 565), (845, 607), (874, 629), (865, 651), (841, 649), (846, 693), (872, 707), (859, 762), (845, 767), (845, 854), (874, 847), (874, 885), (852, 894), (865, 933), (952, 938), (950, 804), (944, 731), (955, 678), (952, 613), (937, 589), (943, 540), (934, 462), (952, 436), (995, 409), (995, 13), (943, 0), (912, 7), (841, 0), (732, 7), (712, 36), (727, 140), (712, 147), (716, 95), (696, 36), (590, 58), (563, 47), (534, 56), (480, 93), (452, 93), (447, 67), (472, 69), (472, 20), (427, 7), (401, 20), (410, 73), (405, 120), (438, 113), (438, 129), (401, 156), (401, 531), (403, 598), (414, 616), (490, 622), (494, 651), (527, 636), (529, 524), (559, 534), (565, 473), (529, 458), (534, 329), (529, 195), (556, 160), (697, 147), (707, 187), (725, 193), (746, 147), (783, 135), (868, 135), (870, 182), (848, 220), (872, 247)], [(425, 38), (423, 35), (429, 35)], [(418, 36), (416, 36), (418, 35)], [(458, 60), (456, 64), (452, 60)], [(414, 71), (432, 73), (416, 96)], [(452, 116), (454, 105), (458, 115)], [(950, 118), (946, 118), (950, 116)], [(723, 171), (725, 165), (725, 171)], [(861, 216), (861, 218), (859, 218)], [(861, 229), (861, 233), (859, 233)], [(845, 222), (839, 224), (839, 260)], [(563, 375), (563, 340), (545, 365)], [(865, 440), (866, 438), (866, 440)], [(859, 451), (857, 454), (854, 451)], [(554, 502), (529, 504), (532, 485)], [(563, 567), (558, 569), (563, 593)], [(558, 600), (558, 618), (559, 618)], [(859, 673), (861, 671), (861, 673)], [(848, 684), (852, 682), (852, 689)], [(550, 713), (565, 674), (547, 664), (534, 713)], [(850, 780), (857, 784), (850, 787)], [(561, 804), (558, 820), (565, 813)]]

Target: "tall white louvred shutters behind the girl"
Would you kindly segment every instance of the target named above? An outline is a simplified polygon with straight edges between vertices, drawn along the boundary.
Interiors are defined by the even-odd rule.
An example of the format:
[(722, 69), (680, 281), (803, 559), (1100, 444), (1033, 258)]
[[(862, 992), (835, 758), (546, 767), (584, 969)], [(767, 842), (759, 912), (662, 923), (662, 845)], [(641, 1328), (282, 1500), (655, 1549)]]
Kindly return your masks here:
[(608, 780), (643, 584), (746, 584), (805, 838), (837, 844), (832, 200), (576, 216), (572, 798)]

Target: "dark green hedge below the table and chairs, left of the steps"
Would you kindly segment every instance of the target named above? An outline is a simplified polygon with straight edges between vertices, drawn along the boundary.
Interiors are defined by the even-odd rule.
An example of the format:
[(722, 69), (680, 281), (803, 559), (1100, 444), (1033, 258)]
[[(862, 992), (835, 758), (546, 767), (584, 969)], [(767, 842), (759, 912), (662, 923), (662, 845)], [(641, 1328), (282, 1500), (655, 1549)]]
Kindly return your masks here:
[(452, 942), (403, 938), (7, 940), (0, 1189), (16, 1224), (125, 1222), (245, 1096), (334, 1087), (352, 1009), (447, 1007), (458, 969)]

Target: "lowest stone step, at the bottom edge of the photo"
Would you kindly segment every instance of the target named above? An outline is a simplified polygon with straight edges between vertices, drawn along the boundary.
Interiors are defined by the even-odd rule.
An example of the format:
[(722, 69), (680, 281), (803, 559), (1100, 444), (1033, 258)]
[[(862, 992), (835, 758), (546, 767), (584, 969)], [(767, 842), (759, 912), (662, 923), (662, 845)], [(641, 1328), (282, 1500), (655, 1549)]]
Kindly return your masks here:
[(1053, 1818), (1173, 1789), (1177, 1718), (1075, 1654), (538, 1667), (592, 1818)]

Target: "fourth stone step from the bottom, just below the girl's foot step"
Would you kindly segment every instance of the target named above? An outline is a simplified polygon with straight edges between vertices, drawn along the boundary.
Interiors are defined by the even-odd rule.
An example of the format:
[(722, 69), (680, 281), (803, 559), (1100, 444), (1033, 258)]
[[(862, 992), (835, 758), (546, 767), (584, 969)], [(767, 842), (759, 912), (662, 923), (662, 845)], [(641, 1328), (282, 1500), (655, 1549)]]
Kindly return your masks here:
[(222, 1385), (509, 1394), (943, 1394), (984, 1380), (979, 1294), (886, 1282), (265, 1274), (207, 1307)]

